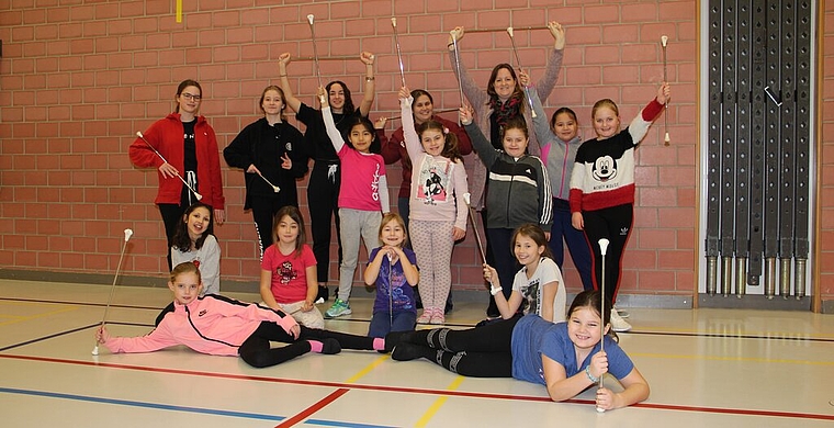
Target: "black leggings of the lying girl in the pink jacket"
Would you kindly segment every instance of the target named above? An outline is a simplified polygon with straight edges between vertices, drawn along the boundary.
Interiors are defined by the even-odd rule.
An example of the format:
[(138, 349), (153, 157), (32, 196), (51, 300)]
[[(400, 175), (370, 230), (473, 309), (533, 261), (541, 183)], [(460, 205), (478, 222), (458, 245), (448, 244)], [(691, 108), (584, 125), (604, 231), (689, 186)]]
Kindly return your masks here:
[[(307, 340), (336, 339), (342, 349), (373, 349), (373, 338), (365, 336), (347, 335), (343, 333), (320, 330), (317, 328), (301, 327), (298, 339), (293, 339), (290, 334), (275, 323), (261, 322), (255, 333), (252, 333), (244, 343), (238, 348), (240, 358), (247, 364), (256, 368), (264, 368), (280, 364), (284, 361), (292, 360), (295, 357), (309, 352), (311, 347)], [(282, 341), (290, 343), (281, 348), (271, 348), (270, 341)]]

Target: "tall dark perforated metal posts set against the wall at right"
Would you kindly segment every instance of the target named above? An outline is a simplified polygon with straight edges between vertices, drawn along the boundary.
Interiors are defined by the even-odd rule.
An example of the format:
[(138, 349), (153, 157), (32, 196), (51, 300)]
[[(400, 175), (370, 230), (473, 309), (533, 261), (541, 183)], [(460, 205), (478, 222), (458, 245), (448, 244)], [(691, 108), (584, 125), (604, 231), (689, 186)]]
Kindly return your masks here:
[(813, 7), (709, 0), (701, 306), (810, 307)]

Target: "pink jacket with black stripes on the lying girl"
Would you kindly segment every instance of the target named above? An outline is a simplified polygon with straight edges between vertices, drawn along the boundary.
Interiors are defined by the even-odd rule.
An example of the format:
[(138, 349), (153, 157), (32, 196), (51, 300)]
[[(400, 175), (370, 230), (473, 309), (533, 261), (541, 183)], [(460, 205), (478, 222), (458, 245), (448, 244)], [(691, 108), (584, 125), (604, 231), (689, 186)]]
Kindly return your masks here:
[(208, 294), (188, 305), (173, 303), (156, 329), (142, 337), (111, 337), (104, 346), (113, 353), (151, 352), (184, 345), (212, 356), (237, 356), (240, 345), (261, 322), (272, 322), (285, 331), (297, 325), (292, 316), (253, 303)]

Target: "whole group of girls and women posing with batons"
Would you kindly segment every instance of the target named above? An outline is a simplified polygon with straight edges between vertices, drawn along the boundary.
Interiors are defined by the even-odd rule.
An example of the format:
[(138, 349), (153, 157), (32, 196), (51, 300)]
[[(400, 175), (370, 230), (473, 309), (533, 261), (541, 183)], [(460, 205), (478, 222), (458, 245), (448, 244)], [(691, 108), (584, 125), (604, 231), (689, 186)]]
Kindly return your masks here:
[[(597, 138), (579, 146), (573, 111), (561, 109), (549, 123), (544, 120), (541, 98), (546, 99), (555, 85), (565, 41), (561, 25), (551, 22), (548, 27), (555, 43), (542, 79), (536, 86), (529, 85), (526, 74), (517, 75), (510, 65), (500, 64), (494, 68), (486, 91), (477, 89), (460, 65), (458, 42), (463, 37), (463, 29), (452, 31), (448, 45), (450, 60), (470, 103), (460, 110), (465, 138), (452, 123), (426, 114), (421, 109), (426, 105), (424, 98), (428, 98), (429, 105), (433, 104), (428, 93), (401, 89), (403, 128), (397, 129), (387, 146), (391, 149), (393, 143), (403, 158), (403, 151), (396, 148), (402, 142), (410, 164), (410, 177), (404, 180), (410, 187), (405, 194), (401, 193), (401, 204), (407, 198), (407, 205), (401, 209), (408, 213), (407, 219), (390, 213), (386, 159), (377, 155), (381, 143), (368, 120), (374, 98), (374, 56), (370, 53), (360, 56), (368, 71), (364, 97), (358, 109), (352, 105), (347, 86), (334, 81), (319, 88), (320, 110), (315, 110), (292, 94), (286, 75), (290, 55), (281, 55), (281, 88), (268, 87), (261, 95), (264, 117), (247, 126), (224, 150), (230, 166), (247, 172), (246, 207), (252, 210), (262, 252), (261, 295), (264, 305), (273, 309), (267, 311), (267, 315), (252, 315), (259, 314), (258, 307), (246, 309), (249, 327), (236, 337), (244, 339), (237, 349), (241, 358), (263, 367), (311, 350), (334, 353), (348, 342), (358, 349), (393, 347), (392, 341), (385, 340), (357, 343), (342, 338), (346, 342), (340, 343), (339, 338), (319, 333), (324, 331), (320, 330), (324, 319), (313, 301), (328, 278), (334, 214), (340, 237), (340, 283), (337, 299), (325, 316), (351, 313), (350, 291), (362, 239), (370, 259), (364, 281), (377, 286), (369, 335), (382, 340), (390, 331), (413, 330), (416, 322), (443, 324), (442, 305), (451, 285), (451, 247), (465, 235), (467, 210), (462, 196), (471, 191), (473, 206), (482, 212), (491, 254), (491, 262), (484, 263), (484, 278), (491, 283), (493, 295), (487, 315), (499, 316), (501, 320), (471, 333), (443, 329), (396, 336), (399, 346), (394, 359), (426, 357), (464, 374), (512, 375), (544, 383), (553, 399), (575, 395), (610, 369), (626, 391), (613, 394), (600, 388), (598, 406), (615, 408), (647, 396), (645, 381), (624, 353), (615, 343), (608, 343), (609, 339), (595, 337), (589, 330), (600, 324), (607, 328), (609, 317), (615, 330), (630, 328), (610, 305), (600, 313), (599, 302), (612, 302), (617, 296), (622, 251), (633, 217), (634, 149), (662, 112), (669, 87), (661, 85), (655, 99), (623, 131), (617, 105), (611, 100), (597, 102), (591, 112)], [(184, 271), (174, 270), (169, 282), (174, 293), (173, 315), (164, 314), (161, 319), (160, 326), (168, 330), (158, 328), (169, 334), (176, 323), (181, 323), (176, 317), (182, 316), (183, 311), (190, 317), (189, 304), (222, 301), (216, 296), (196, 297), (204, 293), (201, 273), (208, 283), (205, 289), (218, 291), (210, 280), (216, 271), (198, 267), (218, 266), (214, 258), (219, 251), (211, 230), (214, 221), (222, 224), (225, 219), (216, 137), (205, 119), (196, 114), (202, 100), (200, 85), (183, 81), (176, 100), (174, 113), (151, 125), (144, 138), (131, 146), (135, 165), (158, 169), (160, 185), (156, 202), (166, 225), (171, 260), (182, 261), (183, 257), (193, 260), (178, 264), (178, 269), (184, 266)], [(526, 108), (528, 103), (530, 110)], [(285, 123), (286, 105), (307, 126), (303, 148), (301, 134)], [(473, 166), (473, 179), (467, 182), (462, 153), (469, 149), (470, 140), (480, 162)], [(315, 161), (308, 187), (312, 250), (305, 244), (294, 185), (294, 180), (306, 173), (307, 156)], [(169, 159), (172, 164), (168, 164)], [(341, 173), (351, 180), (340, 182)], [(177, 176), (189, 185), (172, 180)], [(200, 198), (201, 203), (193, 204)], [(182, 232), (176, 233), (177, 229)], [(414, 252), (406, 246), (406, 229), (412, 232)], [(588, 290), (600, 286), (602, 258), (593, 243), (602, 237), (611, 241), (606, 267), (611, 273), (606, 278), (605, 295)], [(560, 271), (563, 239), (586, 292), (577, 296), (568, 311), (567, 324), (554, 325), (565, 319)], [(376, 245), (379, 248), (374, 248)], [(421, 270), (417, 269), (418, 263)], [(424, 302), (419, 318), (412, 292), (412, 286), (418, 283)], [(529, 315), (520, 317), (520, 314)], [(300, 328), (293, 317), (306, 327)], [(316, 334), (311, 336), (308, 328)], [(113, 339), (103, 328), (97, 337), (114, 351), (158, 349), (183, 342), (162, 333), (151, 335), (156, 342)], [(311, 339), (292, 352), (281, 351), (280, 357), (272, 356), (274, 352), (269, 349), (269, 340), (296, 341), (302, 337), (323, 340)], [(485, 345), (487, 340), (481, 337), (506, 340)], [(613, 350), (610, 361), (607, 353), (594, 352), (600, 340), (606, 340)], [(228, 351), (193, 348), (210, 353)], [(543, 357), (537, 359), (539, 354)], [(484, 367), (495, 372), (484, 374), (481, 372)], [(582, 378), (583, 367), (587, 379)]]

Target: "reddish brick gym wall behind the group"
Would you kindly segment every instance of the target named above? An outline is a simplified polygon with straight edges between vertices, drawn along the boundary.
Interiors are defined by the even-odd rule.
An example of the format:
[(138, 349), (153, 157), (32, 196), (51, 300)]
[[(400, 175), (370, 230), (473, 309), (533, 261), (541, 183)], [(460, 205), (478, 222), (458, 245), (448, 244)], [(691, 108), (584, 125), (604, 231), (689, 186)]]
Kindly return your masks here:
[[(316, 16), (323, 57), (358, 55), (360, 50), (377, 55), (372, 117), (397, 110), (399, 76), (391, 1), (183, 3), (182, 23), (174, 20), (176, 1), (171, 0), (13, 0), (0, 5), (0, 267), (112, 272), (122, 229), (132, 227), (136, 234), (124, 274), (162, 272), (165, 237), (153, 204), (157, 178), (154, 171), (131, 165), (126, 151), (134, 133), (170, 112), (177, 83), (194, 78), (204, 91), (201, 112), (225, 147), (258, 117), (261, 89), (278, 82), (278, 55), (312, 55), (308, 13)], [(663, 76), (660, 37), (669, 36), (672, 146), (663, 146), (661, 120), (638, 150), (635, 227), (626, 252), (621, 293), (690, 295), (696, 288), (700, 246), (697, 2), (489, 3), (500, 7), (484, 9), (484, 2), (476, 0), (396, 2), (408, 85), (430, 90), (438, 108), (459, 104), (457, 82), (444, 56), (448, 31), (454, 25), (518, 29), (549, 20), (564, 24), (564, 67), (548, 110), (574, 108), (585, 137), (591, 135), (589, 111), (596, 100), (617, 100), (623, 120), (629, 121), (653, 97)], [(833, 8), (829, 2), (829, 14)], [(830, 37), (831, 24), (826, 30)], [(516, 43), (523, 65), (538, 79), (551, 36), (545, 31), (517, 30)], [(469, 34), (461, 47), (463, 60), (484, 83), (496, 63), (512, 59), (506, 32)], [(823, 97), (831, 100), (834, 67), (831, 49), (826, 54)], [(363, 70), (359, 60), (322, 63), (325, 78), (345, 80), (357, 101)], [(293, 63), (290, 75), (296, 94), (312, 102), (316, 85), (312, 61)], [(831, 128), (832, 114), (824, 110), (824, 117)], [(827, 147), (822, 153), (823, 171), (831, 170), (831, 158)], [(227, 280), (255, 281), (259, 274), (256, 235), (250, 215), (243, 212), (241, 176), (224, 164), (229, 221), (217, 228), (222, 274)], [(834, 174), (821, 177), (821, 203), (831, 211), (834, 183), (825, 179), (830, 181)], [(392, 168), (394, 196), (398, 178), (398, 168)], [(300, 187), (305, 188), (306, 181)], [(300, 194), (305, 203), (304, 189)], [(823, 237), (826, 230), (831, 235), (831, 222), (823, 219)], [(832, 245), (823, 249), (829, 258), (834, 252)], [(455, 288), (481, 286), (477, 260), (470, 233), (454, 254)], [(335, 262), (331, 268), (335, 277)], [(832, 270), (822, 274), (823, 292), (829, 296), (834, 292), (832, 275)], [(570, 262), (566, 282), (571, 290), (579, 288)]]

